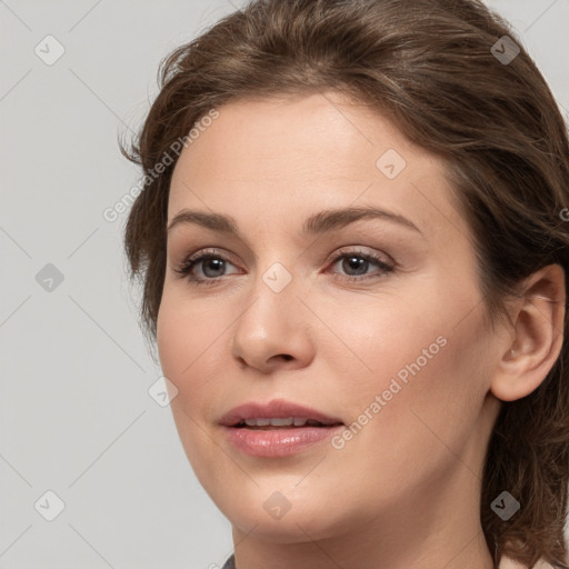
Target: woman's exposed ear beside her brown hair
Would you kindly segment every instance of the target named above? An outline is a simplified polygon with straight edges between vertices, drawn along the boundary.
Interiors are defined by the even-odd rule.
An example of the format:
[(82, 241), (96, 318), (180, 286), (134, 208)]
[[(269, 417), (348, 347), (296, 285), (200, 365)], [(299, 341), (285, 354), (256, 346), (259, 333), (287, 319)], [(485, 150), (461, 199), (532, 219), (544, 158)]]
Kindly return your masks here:
[[(513, 339), (501, 345), (490, 391), (502, 401), (528, 396), (546, 379), (563, 345), (565, 272), (549, 264), (528, 277), (512, 306)], [(506, 349), (505, 349), (506, 347)]]

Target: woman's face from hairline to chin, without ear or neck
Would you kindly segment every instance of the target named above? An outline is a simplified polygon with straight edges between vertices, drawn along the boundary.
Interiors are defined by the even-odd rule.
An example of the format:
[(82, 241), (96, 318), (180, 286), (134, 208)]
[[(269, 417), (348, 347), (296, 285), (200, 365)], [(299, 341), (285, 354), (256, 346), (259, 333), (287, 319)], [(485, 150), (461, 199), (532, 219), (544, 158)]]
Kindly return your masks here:
[[(450, 191), (439, 160), (333, 92), (221, 107), (181, 153), (158, 349), (233, 528), (293, 542), (477, 512), (492, 345)], [(221, 425), (250, 402), (339, 425)]]

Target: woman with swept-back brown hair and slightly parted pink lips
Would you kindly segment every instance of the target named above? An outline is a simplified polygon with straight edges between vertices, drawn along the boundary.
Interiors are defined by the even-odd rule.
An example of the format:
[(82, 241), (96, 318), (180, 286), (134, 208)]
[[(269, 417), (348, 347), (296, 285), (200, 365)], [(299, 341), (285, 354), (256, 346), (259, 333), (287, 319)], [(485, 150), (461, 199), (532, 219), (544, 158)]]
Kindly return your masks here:
[(569, 143), (506, 22), (253, 1), (163, 62), (124, 152), (226, 568), (567, 567)]

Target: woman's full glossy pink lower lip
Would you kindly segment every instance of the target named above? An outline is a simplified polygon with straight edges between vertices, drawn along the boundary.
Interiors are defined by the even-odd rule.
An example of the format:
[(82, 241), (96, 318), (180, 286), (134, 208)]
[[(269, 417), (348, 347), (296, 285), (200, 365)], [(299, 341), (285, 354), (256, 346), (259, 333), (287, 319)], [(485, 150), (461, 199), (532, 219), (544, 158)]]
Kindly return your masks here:
[(284, 457), (330, 439), (343, 425), (331, 427), (292, 427), (271, 430), (223, 427), (229, 441), (252, 457)]

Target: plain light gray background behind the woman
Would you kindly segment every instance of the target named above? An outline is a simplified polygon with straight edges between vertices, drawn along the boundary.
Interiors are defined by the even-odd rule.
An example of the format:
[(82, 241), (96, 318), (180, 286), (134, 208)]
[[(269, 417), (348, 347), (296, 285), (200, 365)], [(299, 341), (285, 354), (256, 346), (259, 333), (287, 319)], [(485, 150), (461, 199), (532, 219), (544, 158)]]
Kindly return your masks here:
[[(569, 0), (488, 3), (568, 117)], [(117, 136), (138, 129), (160, 59), (240, 4), (0, 0), (0, 569), (213, 569), (232, 550), (148, 393), (161, 372), (126, 279), (127, 213), (102, 212), (138, 180)], [(34, 52), (48, 34), (66, 50), (51, 66)]]

